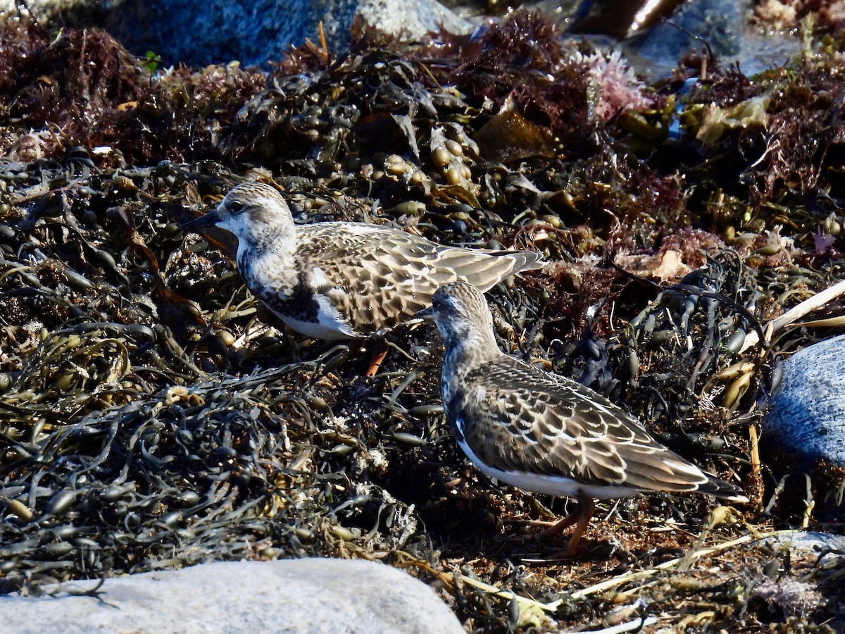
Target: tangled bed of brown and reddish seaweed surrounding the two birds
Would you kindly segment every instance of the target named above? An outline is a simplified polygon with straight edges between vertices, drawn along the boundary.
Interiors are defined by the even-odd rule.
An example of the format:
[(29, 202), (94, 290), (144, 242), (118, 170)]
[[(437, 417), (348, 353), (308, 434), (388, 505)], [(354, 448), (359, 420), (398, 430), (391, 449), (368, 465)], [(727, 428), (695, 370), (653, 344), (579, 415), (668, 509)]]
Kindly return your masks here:
[[(105, 33), (7, 22), (3, 588), (330, 555), (414, 571), (479, 631), (657, 611), (679, 627), (788, 631), (837, 615), (841, 560), (790, 567), (743, 545), (841, 526), (841, 469), (784, 480), (755, 433), (777, 354), (841, 327), (742, 343), (769, 341), (771, 318), (845, 272), (845, 83), (828, 27), (760, 76), (691, 56), (646, 85), (525, 12), (417, 44), (362, 29), (350, 52), (309, 44), (270, 74), (153, 73)], [(430, 326), (392, 333), (365, 377), (366, 354), (260, 312), (225, 234), (180, 232), (246, 178), (284, 189), (297, 221), (541, 251), (542, 271), (490, 293), (499, 344), (630, 407), (755, 504), (600, 506), (571, 561), (505, 538), (565, 500), (466, 466)], [(822, 600), (799, 609), (771, 588), (799, 576)]]

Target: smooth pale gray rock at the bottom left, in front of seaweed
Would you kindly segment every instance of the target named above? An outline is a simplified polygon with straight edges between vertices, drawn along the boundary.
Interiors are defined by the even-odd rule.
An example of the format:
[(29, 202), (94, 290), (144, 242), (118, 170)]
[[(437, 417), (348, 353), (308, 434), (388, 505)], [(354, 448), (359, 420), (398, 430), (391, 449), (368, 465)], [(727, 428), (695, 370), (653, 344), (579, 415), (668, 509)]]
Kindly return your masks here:
[[(68, 585), (79, 591), (96, 584)], [(57, 598), (0, 597), (2, 630), (16, 634), (463, 632), (455, 615), (423, 582), (364, 560), (218, 562), (107, 579), (100, 593), (102, 600), (68, 593)]]

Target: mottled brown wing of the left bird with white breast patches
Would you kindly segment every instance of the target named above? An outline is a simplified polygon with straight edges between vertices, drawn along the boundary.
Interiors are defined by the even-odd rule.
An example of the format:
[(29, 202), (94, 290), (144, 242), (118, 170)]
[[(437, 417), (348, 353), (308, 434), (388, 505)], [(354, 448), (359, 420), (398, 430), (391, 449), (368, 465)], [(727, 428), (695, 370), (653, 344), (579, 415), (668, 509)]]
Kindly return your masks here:
[(447, 282), (460, 279), (488, 290), (540, 259), (444, 247), (398, 229), (355, 223), (304, 225), (297, 238), (303, 270), (319, 267), (328, 281), (324, 294), (365, 335), (411, 318)]

